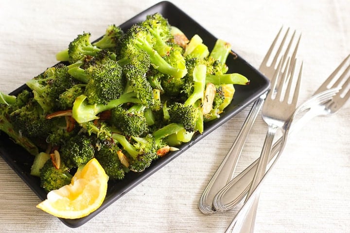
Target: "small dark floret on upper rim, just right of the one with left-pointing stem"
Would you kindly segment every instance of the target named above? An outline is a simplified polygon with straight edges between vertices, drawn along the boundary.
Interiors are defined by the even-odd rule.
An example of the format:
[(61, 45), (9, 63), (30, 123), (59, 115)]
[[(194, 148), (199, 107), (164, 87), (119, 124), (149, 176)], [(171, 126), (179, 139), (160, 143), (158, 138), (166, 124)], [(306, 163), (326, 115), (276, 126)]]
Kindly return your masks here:
[(105, 35), (93, 43), (94, 46), (97, 46), (100, 49), (114, 49), (120, 37), (123, 35), (123, 30), (116, 25), (109, 25), (106, 29)]

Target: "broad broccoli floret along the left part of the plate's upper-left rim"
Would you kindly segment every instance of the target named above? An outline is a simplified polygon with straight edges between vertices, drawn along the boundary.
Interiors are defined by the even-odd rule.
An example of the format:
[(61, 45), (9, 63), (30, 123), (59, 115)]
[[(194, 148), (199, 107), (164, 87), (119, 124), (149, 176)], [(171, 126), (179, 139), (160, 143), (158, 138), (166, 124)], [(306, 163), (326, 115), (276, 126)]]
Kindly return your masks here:
[(68, 73), (68, 67), (58, 64), (48, 68), (43, 74), (29, 80), (26, 84), (33, 90), (34, 99), (42, 109), (51, 113), (55, 111), (59, 95), (75, 85), (76, 81)]

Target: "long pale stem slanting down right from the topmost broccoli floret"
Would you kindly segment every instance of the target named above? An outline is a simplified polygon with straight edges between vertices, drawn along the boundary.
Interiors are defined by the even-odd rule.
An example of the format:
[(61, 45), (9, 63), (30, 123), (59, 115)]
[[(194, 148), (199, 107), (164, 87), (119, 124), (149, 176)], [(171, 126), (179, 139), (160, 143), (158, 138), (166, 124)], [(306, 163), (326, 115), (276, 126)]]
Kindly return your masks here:
[(152, 48), (152, 46), (146, 41), (138, 38), (136, 40), (136, 46), (144, 50), (150, 56), (151, 63), (155, 66), (157, 70), (162, 73), (169, 74), (174, 76), (175, 78), (183, 78), (187, 74), (187, 69), (184, 67), (183, 69), (172, 67), (169, 63), (167, 63), (159, 53)]

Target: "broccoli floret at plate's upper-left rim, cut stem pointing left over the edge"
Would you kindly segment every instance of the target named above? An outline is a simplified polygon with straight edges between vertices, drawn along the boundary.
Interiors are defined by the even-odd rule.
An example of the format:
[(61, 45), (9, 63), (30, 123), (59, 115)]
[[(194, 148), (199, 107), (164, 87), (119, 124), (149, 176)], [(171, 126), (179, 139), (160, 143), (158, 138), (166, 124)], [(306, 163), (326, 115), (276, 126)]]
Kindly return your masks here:
[(90, 33), (79, 34), (70, 42), (68, 49), (56, 54), (58, 61), (69, 61), (71, 64), (79, 61), (84, 56), (95, 56), (101, 49), (92, 45), (90, 42)]

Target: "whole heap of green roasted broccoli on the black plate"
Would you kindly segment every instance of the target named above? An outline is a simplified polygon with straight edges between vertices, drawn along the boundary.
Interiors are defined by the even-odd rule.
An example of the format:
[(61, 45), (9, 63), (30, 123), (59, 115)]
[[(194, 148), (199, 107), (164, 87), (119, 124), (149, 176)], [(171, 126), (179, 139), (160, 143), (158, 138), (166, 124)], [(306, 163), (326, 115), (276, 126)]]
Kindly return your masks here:
[(110, 25), (95, 43), (84, 32), (29, 88), (0, 93), (0, 130), (36, 155), (32, 175), (46, 191), (94, 157), (117, 182), (203, 133), (233, 84), (249, 83), (228, 73), (230, 52), (223, 40), (211, 51), (197, 34), (188, 40), (159, 13), (125, 32)]

